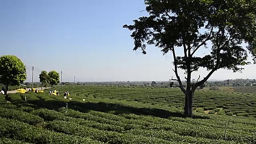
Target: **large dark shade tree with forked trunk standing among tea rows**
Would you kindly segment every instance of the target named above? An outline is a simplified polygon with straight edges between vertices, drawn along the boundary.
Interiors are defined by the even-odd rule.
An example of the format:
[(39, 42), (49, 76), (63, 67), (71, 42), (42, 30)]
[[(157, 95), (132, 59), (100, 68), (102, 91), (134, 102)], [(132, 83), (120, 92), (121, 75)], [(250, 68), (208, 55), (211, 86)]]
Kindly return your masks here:
[[(256, 1), (255, 0), (145, 0), (146, 12), (125, 24), (133, 31), (133, 50), (154, 45), (163, 54), (172, 53), (174, 73), (185, 95), (184, 114), (192, 117), (192, 100), (198, 86), (206, 82), (218, 69), (238, 72), (250, 64), (248, 54), (255, 64)], [(244, 44), (243, 44), (244, 43)], [(199, 49), (208, 48), (210, 53), (198, 56)], [(178, 56), (177, 49), (183, 50)], [(178, 69), (186, 74), (186, 88), (182, 86)], [(199, 68), (208, 74), (193, 83), (192, 72)], [(200, 76), (199, 76), (200, 77)]]

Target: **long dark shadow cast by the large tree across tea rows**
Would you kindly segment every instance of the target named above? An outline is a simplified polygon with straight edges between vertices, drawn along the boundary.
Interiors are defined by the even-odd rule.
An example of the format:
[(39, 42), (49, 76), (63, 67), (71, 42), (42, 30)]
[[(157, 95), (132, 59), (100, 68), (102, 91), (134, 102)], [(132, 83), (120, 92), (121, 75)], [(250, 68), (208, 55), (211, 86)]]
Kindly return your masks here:
[[(33, 104), (34, 107), (37, 108), (47, 108), (50, 110), (58, 110), (61, 107), (66, 107), (66, 102), (59, 100), (30, 100), (28, 104)], [(98, 112), (110, 112), (112, 114), (136, 114), (136, 115), (144, 115), (144, 116), (155, 116), (159, 118), (169, 118), (169, 117), (179, 117), (184, 118), (184, 114), (179, 112), (170, 112), (168, 110), (156, 109), (156, 108), (134, 108), (131, 106), (124, 106), (121, 104), (113, 104), (113, 103), (92, 103), (92, 102), (76, 102), (71, 101), (68, 102), (68, 108), (72, 110), (76, 110), (79, 112), (88, 112), (90, 110), (98, 111)], [(114, 113), (113, 113), (114, 111)], [(194, 118), (199, 119), (209, 119), (207, 116), (194, 116)]]

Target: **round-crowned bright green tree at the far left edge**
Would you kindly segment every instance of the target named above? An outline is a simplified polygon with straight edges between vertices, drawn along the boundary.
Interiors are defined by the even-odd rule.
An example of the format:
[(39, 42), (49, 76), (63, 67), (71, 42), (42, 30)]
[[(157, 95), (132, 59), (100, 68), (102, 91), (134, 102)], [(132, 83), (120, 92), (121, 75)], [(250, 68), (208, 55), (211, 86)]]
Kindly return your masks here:
[(0, 83), (6, 86), (5, 95), (9, 90), (9, 86), (20, 85), (26, 79), (26, 66), (20, 58), (12, 55), (0, 57)]

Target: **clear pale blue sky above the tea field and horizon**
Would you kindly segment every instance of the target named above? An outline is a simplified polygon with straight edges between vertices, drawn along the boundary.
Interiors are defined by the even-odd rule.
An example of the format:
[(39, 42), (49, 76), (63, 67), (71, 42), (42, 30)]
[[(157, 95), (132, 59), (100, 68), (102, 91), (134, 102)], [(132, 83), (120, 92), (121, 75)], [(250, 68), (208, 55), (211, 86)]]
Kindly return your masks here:
[[(0, 54), (16, 55), (28, 67), (28, 80), (41, 70), (63, 72), (64, 81), (168, 80), (172, 56), (158, 48), (133, 52), (131, 32), (122, 28), (147, 15), (144, 0), (1, 0)], [(202, 49), (198, 54), (208, 52)], [(180, 54), (180, 52), (178, 52)], [(219, 70), (211, 79), (255, 78)], [(225, 72), (225, 75), (223, 75)], [(180, 71), (181, 77), (183, 72)], [(194, 77), (207, 73), (200, 70)]]

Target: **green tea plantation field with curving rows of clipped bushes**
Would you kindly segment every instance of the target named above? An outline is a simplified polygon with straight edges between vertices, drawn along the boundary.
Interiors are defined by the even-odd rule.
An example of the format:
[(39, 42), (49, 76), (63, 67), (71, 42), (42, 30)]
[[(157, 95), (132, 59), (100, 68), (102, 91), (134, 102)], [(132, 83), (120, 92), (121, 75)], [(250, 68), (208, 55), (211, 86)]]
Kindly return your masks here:
[[(253, 94), (198, 90), (194, 99), (198, 112), (192, 119), (182, 116), (184, 95), (179, 89), (57, 88), (60, 96), (48, 95), (47, 91), (0, 95), (0, 143), (256, 143)], [(66, 90), (71, 100), (63, 98)], [(209, 110), (211, 114), (203, 113)]]

